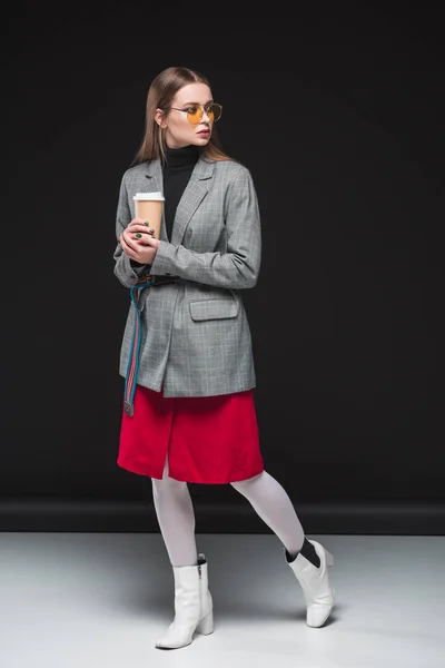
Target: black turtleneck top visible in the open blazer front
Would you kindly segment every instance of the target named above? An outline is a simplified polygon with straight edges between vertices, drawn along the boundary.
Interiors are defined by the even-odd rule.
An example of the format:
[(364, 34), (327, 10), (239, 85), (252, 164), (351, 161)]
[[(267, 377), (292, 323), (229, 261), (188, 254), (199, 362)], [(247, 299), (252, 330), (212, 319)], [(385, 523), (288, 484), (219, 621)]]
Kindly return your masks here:
[(177, 206), (198, 158), (198, 146), (190, 145), (184, 148), (169, 148), (166, 146), (166, 163), (162, 166), (162, 176), (168, 240), (171, 240)]

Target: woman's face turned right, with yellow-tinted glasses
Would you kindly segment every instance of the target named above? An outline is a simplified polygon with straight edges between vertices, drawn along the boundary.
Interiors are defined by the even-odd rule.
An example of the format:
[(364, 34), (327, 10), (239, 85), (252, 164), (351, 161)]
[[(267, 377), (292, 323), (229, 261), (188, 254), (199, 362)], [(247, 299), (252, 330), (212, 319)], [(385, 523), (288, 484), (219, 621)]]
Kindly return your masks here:
[[(189, 146), (206, 146), (211, 136), (212, 120), (204, 111), (197, 125), (188, 120), (187, 109), (206, 107), (212, 101), (211, 90), (206, 84), (188, 84), (178, 90), (171, 101), (170, 109), (164, 114), (156, 110), (155, 119), (165, 128), (166, 143), (169, 148)], [(172, 109), (171, 107), (175, 107)], [(178, 111), (178, 109), (180, 109)]]

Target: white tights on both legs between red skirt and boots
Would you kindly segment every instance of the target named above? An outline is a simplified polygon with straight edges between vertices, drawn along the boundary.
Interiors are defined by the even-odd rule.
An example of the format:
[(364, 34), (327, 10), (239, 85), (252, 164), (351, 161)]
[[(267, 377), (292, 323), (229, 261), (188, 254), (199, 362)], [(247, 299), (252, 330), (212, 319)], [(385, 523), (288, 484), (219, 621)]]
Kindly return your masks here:
[[(151, 479), (159, 528), (171, 566), (195, 566), (195, 512), (187, 482), (168, 475), (168, 460), (162, 480)], [(283, 487), (263, 471), (259, 475), (231, 485), (253, 505), (261, 520), (274, 531), (290, 554), (296, 554), (305, 538), (301, 523)]]

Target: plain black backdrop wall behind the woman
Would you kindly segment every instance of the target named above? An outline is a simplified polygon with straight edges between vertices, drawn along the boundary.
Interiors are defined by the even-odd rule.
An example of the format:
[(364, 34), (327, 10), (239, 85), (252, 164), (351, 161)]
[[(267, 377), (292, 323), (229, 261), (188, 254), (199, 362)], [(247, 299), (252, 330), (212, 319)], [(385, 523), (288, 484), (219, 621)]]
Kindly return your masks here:
[(444, 501), (439, 9), (333, 6), (11, 6), (3, 499), (150, 501), (116, 464), (115, 214), (148, 86), (180, 65), (210, 79), (259, 198), (245, 304), (266, 470), (297, 503)]

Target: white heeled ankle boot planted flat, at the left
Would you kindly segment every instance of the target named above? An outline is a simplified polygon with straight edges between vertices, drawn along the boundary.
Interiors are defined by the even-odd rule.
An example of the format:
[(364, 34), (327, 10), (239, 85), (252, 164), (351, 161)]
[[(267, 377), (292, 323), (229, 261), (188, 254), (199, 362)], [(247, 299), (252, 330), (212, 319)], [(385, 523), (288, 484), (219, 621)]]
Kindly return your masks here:
[(198, 556), (197, 566), (172, 567), (175, 576), (175, 620), (159, 638), (159, 649), (178, 649), (190, 645), (195, 631), (209, 636), (214, 631), (214, 611), (208, 589), (207, 561)]

